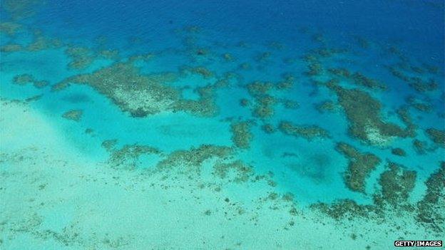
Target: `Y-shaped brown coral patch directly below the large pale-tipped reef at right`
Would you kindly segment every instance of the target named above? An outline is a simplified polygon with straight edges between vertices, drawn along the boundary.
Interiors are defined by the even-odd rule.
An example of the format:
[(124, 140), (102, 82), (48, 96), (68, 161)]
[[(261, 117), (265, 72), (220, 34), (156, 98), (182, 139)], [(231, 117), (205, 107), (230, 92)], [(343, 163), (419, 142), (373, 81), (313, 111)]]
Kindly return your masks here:
[(359, 152), (344, 142), (337, 143), (336, 150), (348, 159), (348, 168), (344, 173), (344, 182), (354, 192), (364, 193), (366, 179), (380, 163), (379, 157), (371, 153)]

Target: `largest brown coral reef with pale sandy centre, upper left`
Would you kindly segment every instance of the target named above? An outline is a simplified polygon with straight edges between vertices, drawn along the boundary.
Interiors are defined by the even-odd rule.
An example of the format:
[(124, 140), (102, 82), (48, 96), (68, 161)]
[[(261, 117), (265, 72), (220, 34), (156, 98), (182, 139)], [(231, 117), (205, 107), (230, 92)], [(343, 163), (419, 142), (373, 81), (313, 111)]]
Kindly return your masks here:
[(198, 88), (199, 100), (187, 100), (180, 98), (180, 90), (166, 84), (176, 78), (174, 73), (143, 75), (133, 63), (115, 63), (90, 74), (67, 78), (53, 85), (53, 90), (66, 88), (70, 83), (88, 84), (134, 117), (163, 111), (185, 111), (201, 116), (218, 112), (213, 85)]

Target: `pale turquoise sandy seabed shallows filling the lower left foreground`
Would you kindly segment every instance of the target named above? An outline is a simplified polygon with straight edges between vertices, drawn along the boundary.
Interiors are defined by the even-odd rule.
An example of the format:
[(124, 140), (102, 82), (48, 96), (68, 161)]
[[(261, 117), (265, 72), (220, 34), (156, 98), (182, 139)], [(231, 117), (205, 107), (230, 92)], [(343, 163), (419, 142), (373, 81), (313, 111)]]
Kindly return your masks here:
[(1, 249), (392, 249), (404, 227), (425, 239), (411, 219), (388, 231), (396, 222), (290, 213), (265, 182), (211, 178), (212, 160), (188, 177), (108, 167), (27, 103), (1, 101), (0, 145)]

